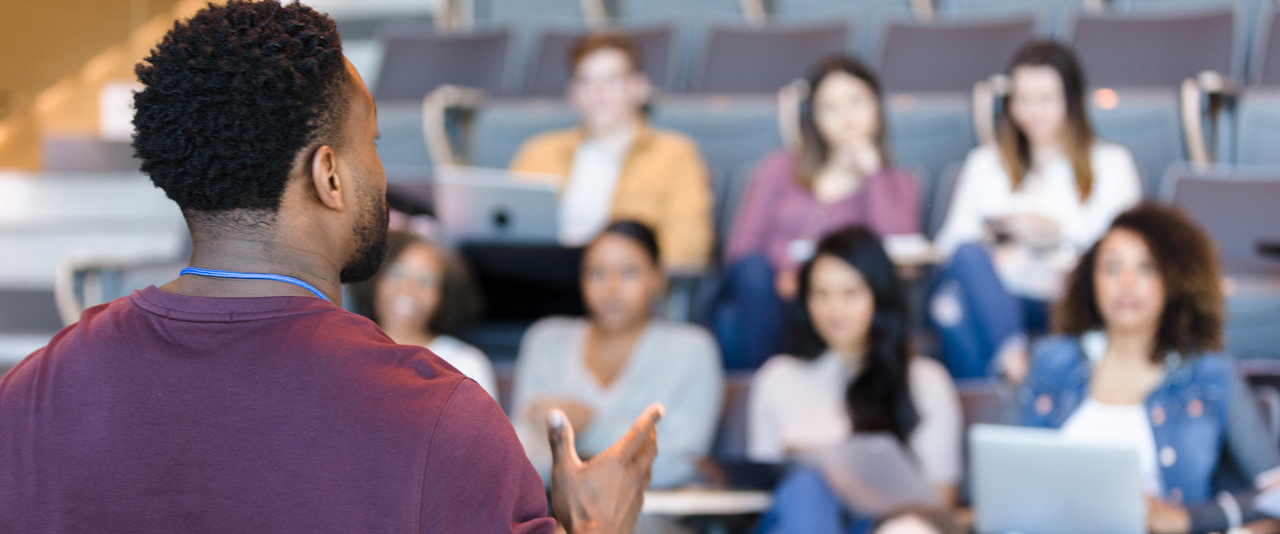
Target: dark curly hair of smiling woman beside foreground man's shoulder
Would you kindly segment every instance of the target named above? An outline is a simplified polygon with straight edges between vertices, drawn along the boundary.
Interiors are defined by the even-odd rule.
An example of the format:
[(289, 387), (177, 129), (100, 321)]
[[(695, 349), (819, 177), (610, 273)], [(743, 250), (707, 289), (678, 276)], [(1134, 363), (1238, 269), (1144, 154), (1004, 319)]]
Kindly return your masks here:
[(444, 273), (440, 277), (440, 302), (422, 327), (436, 336), (458, 336), (483, 311), (484, 296), (476, 284), (476, 277), (466, 261), (456, 254), (408, 232), (388, 232), (387, 260), (383, 261), (381, 269), (372, 279), (351, 287), (352, 295), (356, 297), (356, 310), (360, 315), (378, 323), (378, 284), (387, 277), (387, 270), (399, 260), (401, 255), (415, 245), (431, 247), (444, 266)]

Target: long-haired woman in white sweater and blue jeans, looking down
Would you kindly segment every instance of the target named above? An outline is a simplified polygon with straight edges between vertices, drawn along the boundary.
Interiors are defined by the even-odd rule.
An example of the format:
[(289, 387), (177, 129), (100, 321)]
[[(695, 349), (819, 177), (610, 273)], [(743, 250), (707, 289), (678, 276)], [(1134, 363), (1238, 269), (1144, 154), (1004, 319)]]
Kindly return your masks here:
[(951, 259), (929, 315), (957, 378), (1020, 380), (1027, 333), (1047, 328), (1075, 251), (1142, 198), (1129, 150), (1093, 137), (1069, 49), (1028, 45), (1009, 76), (998, 138), (969, 154), (936, 239)]

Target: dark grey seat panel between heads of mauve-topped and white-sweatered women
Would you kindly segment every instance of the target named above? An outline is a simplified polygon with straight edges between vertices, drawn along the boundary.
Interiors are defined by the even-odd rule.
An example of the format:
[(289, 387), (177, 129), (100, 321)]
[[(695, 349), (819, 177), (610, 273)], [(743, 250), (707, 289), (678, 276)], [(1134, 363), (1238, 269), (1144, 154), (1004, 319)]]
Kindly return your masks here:
[(878, 73), (887, 92), (959, 91), (1004, 72), (1034, 32), (1032, 18), (890, 24)]

